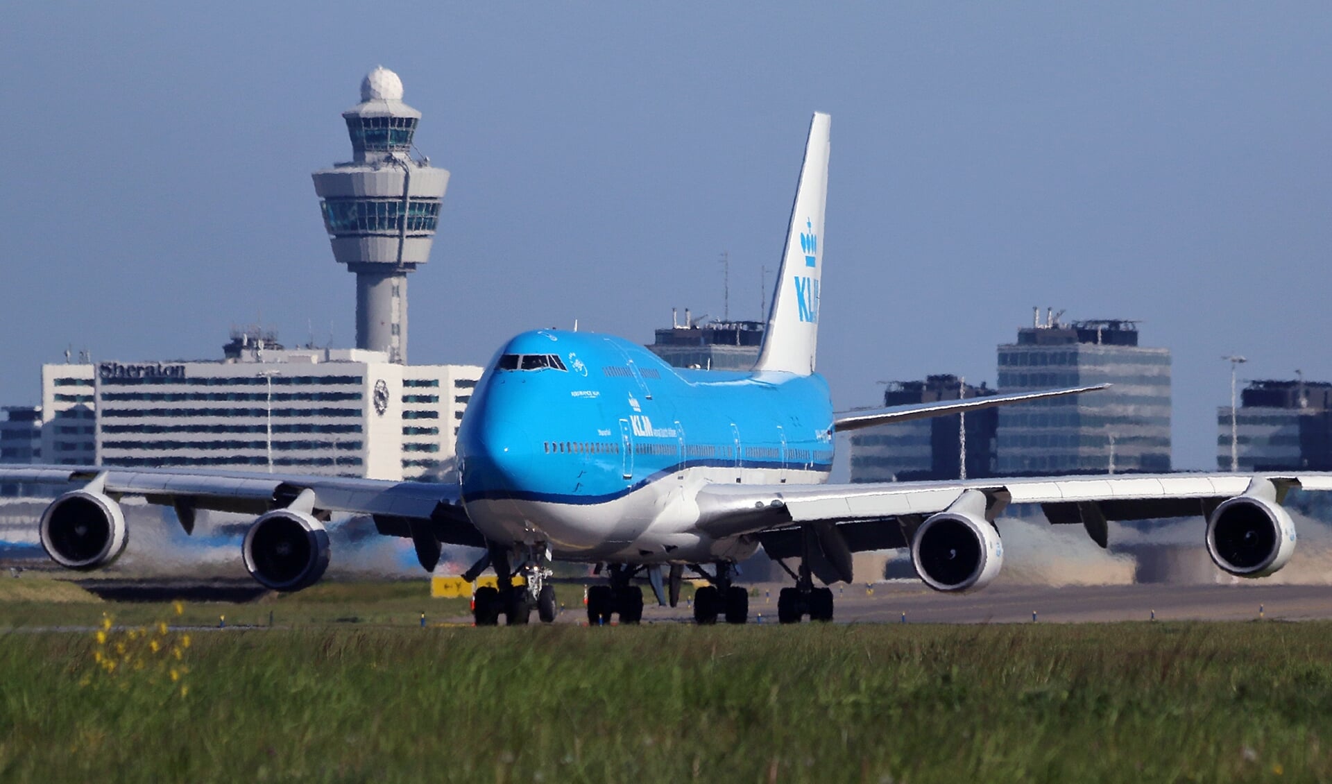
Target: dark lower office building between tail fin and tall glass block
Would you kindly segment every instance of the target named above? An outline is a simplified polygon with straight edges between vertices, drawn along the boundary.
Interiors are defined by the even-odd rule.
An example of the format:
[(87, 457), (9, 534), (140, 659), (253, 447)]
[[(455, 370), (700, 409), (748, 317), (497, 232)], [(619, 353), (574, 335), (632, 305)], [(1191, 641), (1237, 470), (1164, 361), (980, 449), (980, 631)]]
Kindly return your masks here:
[[(984, 383), (963, 383), (956, 375), (930, 375), (924, 381), (895, 381), (883, 393), (884, 406), (932, 403), (992, 395)], [(851, 482), (914, 482), (956, 479), (966, 447), (968, 478), (992, 477), (998, 409), (966, 417), (966, 442), (959, 415), (880, 425), (851, 435)]]

